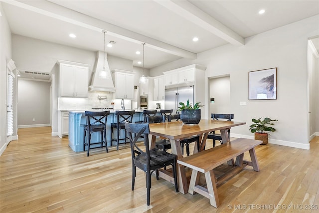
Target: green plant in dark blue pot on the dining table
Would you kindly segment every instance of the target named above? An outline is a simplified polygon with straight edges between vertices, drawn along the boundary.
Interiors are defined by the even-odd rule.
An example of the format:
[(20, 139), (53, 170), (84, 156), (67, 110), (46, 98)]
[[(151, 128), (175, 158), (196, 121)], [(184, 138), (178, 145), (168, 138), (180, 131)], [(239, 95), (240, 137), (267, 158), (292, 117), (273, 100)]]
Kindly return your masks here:
[(200, 109), (199, 107), (203, 107), (204, 105), (200, 104), (200, 102), (195, 103), (194, 106), (189, 103), (187, 100), (186, 105), (183, 102), (179, 102), (180, 107), (178, 107), (177, 111), (180, 111), (180, 120), (184, 124), (198, 124), (200, 121)]

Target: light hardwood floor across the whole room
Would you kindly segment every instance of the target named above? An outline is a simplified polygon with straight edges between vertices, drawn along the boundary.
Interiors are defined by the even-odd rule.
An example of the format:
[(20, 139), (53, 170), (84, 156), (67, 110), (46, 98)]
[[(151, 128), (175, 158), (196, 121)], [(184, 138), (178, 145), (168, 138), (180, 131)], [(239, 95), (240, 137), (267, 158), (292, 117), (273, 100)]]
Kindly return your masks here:
[[(260, 172), (246, 167), (217, 189), (218, 209), (201, 195), (176, 193), (152, 178), (146, 205), (143, 172), (131, 190), (129, 144), (75, 153), (49, 127), (19, 129), (0, 157), (0, 212), (318, 212), (319, 137), (310, 150), (260, 145)], [(207, 141), (207, 148), (212, 142)], [(245, 153), (245, 159), (249, 154)], [(291, 206), (289, 206), (291, 205)], [(317, 209), (317, 210), (307, 210)]]

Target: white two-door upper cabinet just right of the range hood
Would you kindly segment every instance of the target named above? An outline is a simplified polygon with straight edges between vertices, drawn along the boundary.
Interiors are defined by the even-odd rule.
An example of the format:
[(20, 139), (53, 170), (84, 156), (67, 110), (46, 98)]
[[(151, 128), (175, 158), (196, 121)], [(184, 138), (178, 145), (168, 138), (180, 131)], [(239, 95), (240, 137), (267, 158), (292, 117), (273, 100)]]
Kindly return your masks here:
[(113, 70), (116, 99), (134, 99), (134, 73), (125, 70)]

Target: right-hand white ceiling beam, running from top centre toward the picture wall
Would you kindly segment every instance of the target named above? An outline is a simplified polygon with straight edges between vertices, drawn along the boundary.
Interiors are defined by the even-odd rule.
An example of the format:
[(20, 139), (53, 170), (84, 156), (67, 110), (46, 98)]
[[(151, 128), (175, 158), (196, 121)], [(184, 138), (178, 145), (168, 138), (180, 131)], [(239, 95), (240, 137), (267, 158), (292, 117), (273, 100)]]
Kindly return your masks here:
[(202, 11), (194, 4), (186, 0), (155, 0), (160, 5), (170, 9), (176, 14), (186, 18), (187, 20), (201, 26), (210, 31), (214, 35), (232, 43), (236, 46), (245, 45), (245, 40), (242, 36)]

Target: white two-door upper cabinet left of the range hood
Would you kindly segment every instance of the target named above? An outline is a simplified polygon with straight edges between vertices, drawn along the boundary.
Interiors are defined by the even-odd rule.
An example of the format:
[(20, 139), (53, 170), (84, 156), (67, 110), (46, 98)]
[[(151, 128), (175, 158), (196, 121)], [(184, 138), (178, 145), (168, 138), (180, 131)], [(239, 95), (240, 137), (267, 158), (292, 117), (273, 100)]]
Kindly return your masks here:
[[(60, 64), (60, 96), (88, 97), (89, 68), (88, 64), (61, 61)], [(83, 66), (82, 66), (83, 65)]]

